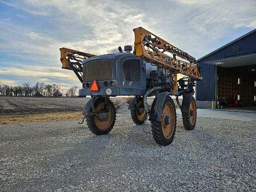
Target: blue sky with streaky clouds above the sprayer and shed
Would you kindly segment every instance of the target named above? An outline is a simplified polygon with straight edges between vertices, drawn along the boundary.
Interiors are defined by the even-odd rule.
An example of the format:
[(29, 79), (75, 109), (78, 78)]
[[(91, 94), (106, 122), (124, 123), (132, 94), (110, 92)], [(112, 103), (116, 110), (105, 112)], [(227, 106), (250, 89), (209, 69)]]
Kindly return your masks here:
[(0, 0), (0, 82), (81, 87), (61, 47), (100, 55), (143, 27), (199, 59), (256, 28), (256, 0)]

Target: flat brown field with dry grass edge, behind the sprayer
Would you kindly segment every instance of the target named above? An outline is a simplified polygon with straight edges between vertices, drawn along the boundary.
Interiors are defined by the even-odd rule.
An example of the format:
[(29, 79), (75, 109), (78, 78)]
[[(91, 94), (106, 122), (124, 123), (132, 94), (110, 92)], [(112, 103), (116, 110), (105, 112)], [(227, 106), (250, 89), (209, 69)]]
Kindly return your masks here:
[[(0, 124), (60, 120), (81, 120), (84, 105), (90, 98), (81, 97), (0, 97)], [(123, 98), (111, 99), (116, 108)], [(118, 102), (117, 102), (118, 101)], [(149, 100), (149, 104), (152, 100)], [(128, 111), (128, 109), (127, 109)]]

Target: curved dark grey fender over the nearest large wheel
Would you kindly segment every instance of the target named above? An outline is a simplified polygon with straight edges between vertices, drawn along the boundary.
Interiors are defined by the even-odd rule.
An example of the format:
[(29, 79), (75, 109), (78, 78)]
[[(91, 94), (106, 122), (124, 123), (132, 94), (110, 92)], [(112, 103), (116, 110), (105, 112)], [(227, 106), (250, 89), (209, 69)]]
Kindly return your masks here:
[(153, 101), (152, 108), (149, 113), (150, 121), (161, 121), (162, 120), (162, 109), (165, 98), (170, 95), (171, 92), (161, 92), (159, 93), (155, 100)]

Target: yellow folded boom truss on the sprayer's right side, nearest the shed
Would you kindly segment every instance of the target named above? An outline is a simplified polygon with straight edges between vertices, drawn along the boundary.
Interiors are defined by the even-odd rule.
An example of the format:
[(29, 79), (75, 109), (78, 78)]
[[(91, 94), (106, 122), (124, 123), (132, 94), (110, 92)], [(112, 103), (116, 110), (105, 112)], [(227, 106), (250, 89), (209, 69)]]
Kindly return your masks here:
[[(202, 80), (194, 57), (142, 27), (133, 29), (133, 32), (135, 34), (134, 48), (136, 56), (152, 64), (172, 70), (174, 73), (181, 73), (194, 80)], [(164, 54), (164, 52), (172, 53), (173, 57)], [(176, 56), (187, 60), (189, 63), (176, 59)]]

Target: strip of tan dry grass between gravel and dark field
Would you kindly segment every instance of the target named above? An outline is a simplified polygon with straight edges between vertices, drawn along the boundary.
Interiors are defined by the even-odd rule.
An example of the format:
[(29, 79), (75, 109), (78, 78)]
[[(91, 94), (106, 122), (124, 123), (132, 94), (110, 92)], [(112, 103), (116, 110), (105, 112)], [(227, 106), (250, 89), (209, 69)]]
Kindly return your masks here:
[(83, 117), (82, 112), (50, 112), (26, 115), (5, 115), (0, 116), (0, 124), (81, 120)]

